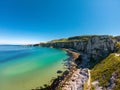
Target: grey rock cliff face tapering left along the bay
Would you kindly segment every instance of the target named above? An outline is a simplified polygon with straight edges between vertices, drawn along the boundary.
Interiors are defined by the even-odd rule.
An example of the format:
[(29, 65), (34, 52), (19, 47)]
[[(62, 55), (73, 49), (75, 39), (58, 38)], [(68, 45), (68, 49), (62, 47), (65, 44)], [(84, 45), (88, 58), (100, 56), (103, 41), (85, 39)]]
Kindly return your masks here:
[(115, 40), (111, 36), (92, 36), (88, 40), (50, 42), (40, 44), (44, 47), (71, 48), (86, 53), (92, 60), (100, 60), (115, 50)]

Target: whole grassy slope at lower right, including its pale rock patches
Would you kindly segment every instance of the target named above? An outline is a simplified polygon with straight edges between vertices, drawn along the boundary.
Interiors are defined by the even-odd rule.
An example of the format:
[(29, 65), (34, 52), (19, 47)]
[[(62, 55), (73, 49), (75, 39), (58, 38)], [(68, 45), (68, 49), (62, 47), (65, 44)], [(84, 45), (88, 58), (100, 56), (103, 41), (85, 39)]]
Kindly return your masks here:
[(94, 90), (120, 90), (120, 54), (112, 53), (91, 69)]

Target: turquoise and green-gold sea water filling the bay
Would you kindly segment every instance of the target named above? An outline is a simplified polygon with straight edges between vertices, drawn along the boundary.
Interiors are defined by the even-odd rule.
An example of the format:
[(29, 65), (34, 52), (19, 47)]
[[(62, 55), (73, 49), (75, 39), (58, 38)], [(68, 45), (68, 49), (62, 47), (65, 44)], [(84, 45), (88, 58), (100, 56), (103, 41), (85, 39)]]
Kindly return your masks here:
[(0, 90), (31, 90), (49, 84), (64, 69), (65, 51), (54, 48), (0, 46)]

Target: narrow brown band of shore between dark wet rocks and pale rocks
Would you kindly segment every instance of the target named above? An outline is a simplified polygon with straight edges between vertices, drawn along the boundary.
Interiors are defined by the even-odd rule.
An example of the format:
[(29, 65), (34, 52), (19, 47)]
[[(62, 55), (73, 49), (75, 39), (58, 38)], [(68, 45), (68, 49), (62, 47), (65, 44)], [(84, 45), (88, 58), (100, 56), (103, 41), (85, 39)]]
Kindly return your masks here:
[(68, 59), (68, 73), (67, 71), (65, 71), (63, 73), (63, 75), (61, 77), (64, 77), (60, 82), (59, 85), (55, 88), (55, 90), (60, 90), (61, 87), (63, 87), (65, 85), (65, 83), (69, 80), (69, 78), (72, 77), (72, 75), (74, 74), (75, 71), (77, 71), (77, 63), (76, 60), (79, 58), (80, 53), (71, 49), (65, 49), (63, 48), (63, 50), (65, 50), (67, 52), (67, 54), (70, 56), (70, 58)]

